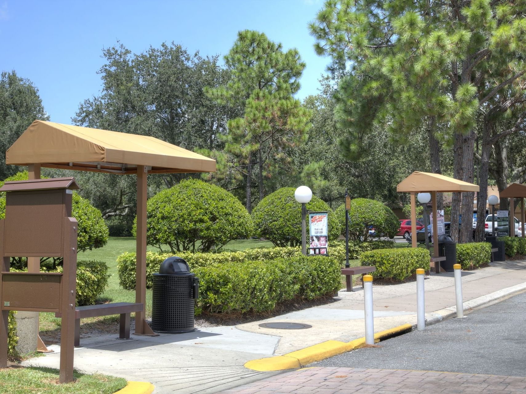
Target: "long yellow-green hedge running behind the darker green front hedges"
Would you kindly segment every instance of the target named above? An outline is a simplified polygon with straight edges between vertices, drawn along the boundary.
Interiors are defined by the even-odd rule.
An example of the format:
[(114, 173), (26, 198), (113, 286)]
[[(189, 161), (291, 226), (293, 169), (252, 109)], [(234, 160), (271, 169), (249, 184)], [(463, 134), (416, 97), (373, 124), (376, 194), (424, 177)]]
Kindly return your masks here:
[[(349, 242), (349, 259), (356, 260), (365, 251), (376, 250), (392, 246), (393, 241), (373, 241), (373, 242)], [(330, 257), (338, 262), (345, 261), (345, 242), (335, 242), (334, 246), (329, 246)], [(271, 261), (277, 258), (289, 258), (301, 256), (299, 247), (260, 247), (247, 249), (242, 252), (220, 252), (220, 253), (191, 253), (179, 252), (177, 255), (188, 263), (191, 269), (198, 267), (209, 267), (228, 262), (245, 261)], [(159, 271), (159, 265), (173, 256), (171, 253), (146, 253), (146, 287), (151, 288), (153, 274)], [(117, 272), (119, 284), (127, 290), (135, 289), (135, 253), (123, 253), (117, 257)]]

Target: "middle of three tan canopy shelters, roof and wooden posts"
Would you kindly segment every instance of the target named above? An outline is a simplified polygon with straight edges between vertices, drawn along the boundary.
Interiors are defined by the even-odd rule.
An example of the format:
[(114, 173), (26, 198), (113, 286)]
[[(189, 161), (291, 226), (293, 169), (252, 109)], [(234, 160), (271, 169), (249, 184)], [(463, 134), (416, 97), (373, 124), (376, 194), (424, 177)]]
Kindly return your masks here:
[(437, 231), (437, 192), (478, 192), (479, 186), (473, 183), (459, 181), (458, 179), (446, 177), (445, 175), (430, 172), (414, 171), (409, 177), (400, 182), (396, 188), (399, 193), (411, 194), (411, 241), (412, 247), (417, 247), (417, 193), (431, 193), (431, 204), (433, 211), (433, 257), (435, 272), (440, 273), (440, 257), (438, 253), (438, 231)]

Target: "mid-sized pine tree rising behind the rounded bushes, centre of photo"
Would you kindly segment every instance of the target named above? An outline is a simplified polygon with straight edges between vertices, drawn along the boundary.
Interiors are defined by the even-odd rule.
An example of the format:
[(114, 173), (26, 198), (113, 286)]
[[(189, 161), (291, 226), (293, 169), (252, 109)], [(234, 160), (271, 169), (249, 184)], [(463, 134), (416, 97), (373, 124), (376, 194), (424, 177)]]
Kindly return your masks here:
[(220, 103), (245, 108), (244, 116), (228, 122), (228, 134), (223, 139), (232, 158), (227, 168), (246, 180), (246, 207), (250, 212), (254, 166), (261, 200), (264, 177), (286, 168), (287, 149), (307, 136), (310, 111), (294, 98), (305, 63), (296, 49), (284, 51), (281, 44), (253, 30), (238, 33), (225, 63), (231, 69), (231, 80), (226, 86), (208, 89), (207, 94)]

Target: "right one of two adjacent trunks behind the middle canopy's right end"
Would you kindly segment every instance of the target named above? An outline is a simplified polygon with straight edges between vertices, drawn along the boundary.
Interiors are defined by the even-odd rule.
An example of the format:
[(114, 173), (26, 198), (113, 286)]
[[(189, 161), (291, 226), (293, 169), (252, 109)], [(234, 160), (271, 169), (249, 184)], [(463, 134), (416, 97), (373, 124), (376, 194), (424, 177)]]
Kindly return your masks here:
[[(477, 133), (471, 130), (463, 138), (462, 169), (464, 182), (473, 183), (473, 153)], [(460, 242), (473, 242), (473, 200), (474, 192), (462, 193), (462, 225), (460, 229)]]

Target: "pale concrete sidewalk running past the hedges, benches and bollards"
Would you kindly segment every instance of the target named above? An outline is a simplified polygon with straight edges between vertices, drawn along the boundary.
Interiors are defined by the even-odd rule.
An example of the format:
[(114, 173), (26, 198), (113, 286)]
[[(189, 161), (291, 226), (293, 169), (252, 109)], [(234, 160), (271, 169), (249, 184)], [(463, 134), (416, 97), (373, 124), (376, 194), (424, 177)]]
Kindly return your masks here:
[[(491, 263), (490, 267), (463, 272), (464, 308), (526, 288), (526, 262)], [(429, 322), (455, 311), (452, 273), (431, 275), (425, 281)], [(374, 285), (375, 331), (416, 324), (416, 283)], [(307, 329), (260, 327), (270, 322), (311, 325)], [(351, 341), (364, 335), (363, 292), (340, 292), (335, 302), (238, 326), (200, 328), (194, 333), (132, 335), (130, 340), (106, 335), (81, 339), (75, 367), (103, 372), (156, 386), (155, 393), (214, 393), (260, 380), (279, 372), (258, 372), (244, 367), (249, 360), (283, 355), (326, 340)], [(54, 354), (25, 361), (26, 365), (58, 368)]]

